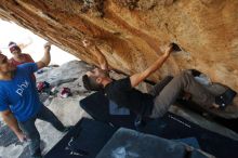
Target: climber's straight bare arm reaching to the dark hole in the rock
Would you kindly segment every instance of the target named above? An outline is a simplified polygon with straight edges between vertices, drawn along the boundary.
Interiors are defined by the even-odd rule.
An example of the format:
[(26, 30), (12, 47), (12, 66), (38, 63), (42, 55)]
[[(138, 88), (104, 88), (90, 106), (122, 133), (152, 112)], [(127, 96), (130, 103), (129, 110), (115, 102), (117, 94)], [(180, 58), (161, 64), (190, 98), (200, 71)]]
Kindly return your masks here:
[(167, 61), (167, 58), (170, 56), (170, 53), (172, 52), (172, 45), (170, 44), (166, 53), (162, 54), (155, 63), (153, 63), (147, 69), (145, 69), (142, 73), (134, 74), (130, 77), (131, 87), (134, 88), (138, 83), (141, 83), (143, 80), (145, 80), (149, 75), (155, 73), (157, 69), (159, 69), (163, 63)]

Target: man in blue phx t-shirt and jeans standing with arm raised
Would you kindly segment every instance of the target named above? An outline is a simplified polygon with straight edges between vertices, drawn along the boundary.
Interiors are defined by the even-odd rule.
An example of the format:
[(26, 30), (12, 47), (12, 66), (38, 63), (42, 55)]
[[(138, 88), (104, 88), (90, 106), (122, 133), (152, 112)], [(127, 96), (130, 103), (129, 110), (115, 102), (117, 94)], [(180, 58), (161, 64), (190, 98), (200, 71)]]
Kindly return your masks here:
[(58, 131), (66, 128), (57, 117), (39, 100), (32, 73), (49, 65), (51, 45), (44, 45), (44, 55), (37, 63), (14, 66), (8, 57), (0, 54), (0, 114), (4, 122), (21, 142), (28, 141), (30, 155), (40, 158), (40, 134), (35, 126), (36, 119), (50, 122)]

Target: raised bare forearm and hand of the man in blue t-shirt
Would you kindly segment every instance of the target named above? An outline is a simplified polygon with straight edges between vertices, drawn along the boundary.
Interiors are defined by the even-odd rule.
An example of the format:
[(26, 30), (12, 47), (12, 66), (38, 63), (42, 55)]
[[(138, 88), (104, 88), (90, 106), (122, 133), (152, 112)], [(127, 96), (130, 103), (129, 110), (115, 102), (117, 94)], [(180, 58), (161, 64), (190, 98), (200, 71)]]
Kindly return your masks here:
[(38, 69), (41, 69), (50, 64), (50, 62), (51, 62), (50, 51), (51, 51), (51, 44), (48, 42), (44, 44), (43, 57), (39, 62), (37, 62)]

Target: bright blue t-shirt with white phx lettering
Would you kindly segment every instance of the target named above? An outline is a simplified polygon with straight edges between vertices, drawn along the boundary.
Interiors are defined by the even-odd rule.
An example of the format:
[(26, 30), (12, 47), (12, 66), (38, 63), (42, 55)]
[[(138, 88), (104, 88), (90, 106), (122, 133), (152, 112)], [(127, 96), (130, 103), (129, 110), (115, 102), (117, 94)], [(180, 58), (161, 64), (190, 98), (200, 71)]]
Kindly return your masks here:
[(36, 63), (18, 65), (12, 80), (0, 80), (0, 111), (10, 109), (23, 122), (32, 118), (42, 107), (32, 80)]

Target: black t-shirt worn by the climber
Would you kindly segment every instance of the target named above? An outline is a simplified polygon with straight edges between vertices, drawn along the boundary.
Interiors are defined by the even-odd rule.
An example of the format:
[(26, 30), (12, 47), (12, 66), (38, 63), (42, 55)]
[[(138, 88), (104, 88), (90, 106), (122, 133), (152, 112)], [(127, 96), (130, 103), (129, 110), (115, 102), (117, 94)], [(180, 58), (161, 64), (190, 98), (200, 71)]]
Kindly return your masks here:
[(154, 97), (131, 87), (130, 78), (115, 80), (105, 87), (105, 95), (119, 107), (128, 107), (135, 114), (149, 116)]

